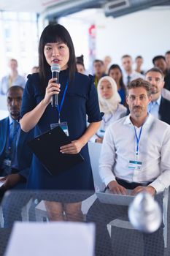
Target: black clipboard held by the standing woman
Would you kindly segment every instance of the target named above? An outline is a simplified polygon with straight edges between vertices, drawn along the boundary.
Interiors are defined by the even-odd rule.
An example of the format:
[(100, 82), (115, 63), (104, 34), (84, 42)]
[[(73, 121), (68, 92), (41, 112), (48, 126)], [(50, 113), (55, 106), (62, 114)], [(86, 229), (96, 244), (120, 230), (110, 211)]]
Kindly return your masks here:
[(34, 140), (28, 141), (28, 146), (42, 162), (45, 169), (52, 176), (56, 176), (84, 161), (80, 153), (62, 154), (60, 152), (61, 146), (71, 142), (72, 140), (58, 126), (37, 136)]

